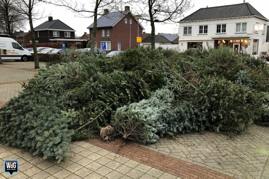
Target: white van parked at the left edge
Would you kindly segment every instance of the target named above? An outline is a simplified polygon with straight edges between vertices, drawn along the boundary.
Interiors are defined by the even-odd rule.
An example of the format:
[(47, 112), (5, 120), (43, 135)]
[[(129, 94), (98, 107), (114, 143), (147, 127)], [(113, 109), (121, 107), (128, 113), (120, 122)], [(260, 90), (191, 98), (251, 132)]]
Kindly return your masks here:
[(26, 62), (32, 58), (28, 50), (25, 50), (18, 42), (9, 37), (0, 37), (0, 53), (2, 60), (22, 60)]

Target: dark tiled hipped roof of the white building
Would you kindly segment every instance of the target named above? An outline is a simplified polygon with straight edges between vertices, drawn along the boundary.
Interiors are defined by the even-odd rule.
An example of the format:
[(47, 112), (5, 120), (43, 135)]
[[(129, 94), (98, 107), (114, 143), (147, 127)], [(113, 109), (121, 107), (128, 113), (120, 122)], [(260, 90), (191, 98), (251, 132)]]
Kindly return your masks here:
[(189, 16), (181, 19), (180, 22), (244, 16), (256, 16), (266, 19), (260, 12), (246, 2), (227, 6), (200, 8)]

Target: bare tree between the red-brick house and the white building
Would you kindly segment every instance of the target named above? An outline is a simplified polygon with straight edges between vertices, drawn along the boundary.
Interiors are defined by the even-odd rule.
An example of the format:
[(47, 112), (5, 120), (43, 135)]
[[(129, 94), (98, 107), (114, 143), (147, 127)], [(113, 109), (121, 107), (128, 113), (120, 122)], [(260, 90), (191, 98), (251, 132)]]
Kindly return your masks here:
[(142, 20), (150, 22), (151, 48), (155, 48), (155, 22), (176, 22), (186, 10), (189, 10), (191, 0), (134, 0), (135, 12), (142, 15)]

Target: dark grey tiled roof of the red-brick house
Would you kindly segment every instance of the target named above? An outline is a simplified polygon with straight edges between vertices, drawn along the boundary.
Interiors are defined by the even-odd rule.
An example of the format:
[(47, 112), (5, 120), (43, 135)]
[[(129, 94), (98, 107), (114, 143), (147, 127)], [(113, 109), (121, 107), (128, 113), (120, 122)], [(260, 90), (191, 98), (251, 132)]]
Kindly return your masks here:
[[(112, 27), (128, 12), (129, 11), (109, 12), (107, 14), (104, 14), (97, 19), (97, 27)], [(93, 28), (93, 27), (94, 27), (94, 23), (89, 25), (89, 27), (87, 28)]]

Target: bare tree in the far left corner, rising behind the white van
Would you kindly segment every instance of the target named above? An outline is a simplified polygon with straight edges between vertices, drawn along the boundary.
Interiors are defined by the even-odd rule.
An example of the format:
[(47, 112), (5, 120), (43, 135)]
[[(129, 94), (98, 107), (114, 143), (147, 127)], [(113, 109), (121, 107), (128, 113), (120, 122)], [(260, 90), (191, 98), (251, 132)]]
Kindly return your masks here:
[(13, 32), (24, 29), (26, 17), (18, 10), (15, 0), (0, 0), (0, 31), (12, 35)]

